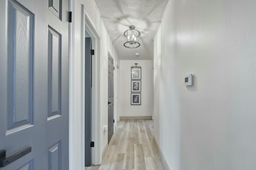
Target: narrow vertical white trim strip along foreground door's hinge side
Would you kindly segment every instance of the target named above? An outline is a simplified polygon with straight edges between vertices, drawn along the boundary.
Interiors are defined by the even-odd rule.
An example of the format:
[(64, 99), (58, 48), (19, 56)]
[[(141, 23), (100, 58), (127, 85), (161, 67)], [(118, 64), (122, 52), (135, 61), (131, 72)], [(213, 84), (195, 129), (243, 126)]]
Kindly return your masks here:
[[(69, 11), (74, 11), (74, 0), (69, 0)], [(74, 21), (74, 15), (72, 15)], [(69, 23), (69, 169), (74, 164), (74, 23)]]

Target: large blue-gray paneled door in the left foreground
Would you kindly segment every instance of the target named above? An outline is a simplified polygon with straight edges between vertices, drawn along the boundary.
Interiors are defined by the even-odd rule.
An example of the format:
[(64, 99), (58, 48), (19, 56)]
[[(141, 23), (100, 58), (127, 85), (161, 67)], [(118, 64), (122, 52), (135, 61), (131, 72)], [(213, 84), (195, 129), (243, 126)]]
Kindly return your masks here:
[(0, 1), (1, 170), (68, 170), (68, 0)]

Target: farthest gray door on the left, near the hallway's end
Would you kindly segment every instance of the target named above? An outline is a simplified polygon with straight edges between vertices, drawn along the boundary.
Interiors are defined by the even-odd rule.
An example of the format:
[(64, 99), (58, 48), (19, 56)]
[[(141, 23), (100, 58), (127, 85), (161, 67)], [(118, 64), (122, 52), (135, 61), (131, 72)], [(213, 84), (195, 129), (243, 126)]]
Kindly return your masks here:
[(114, 61), (108, 57), (108, 143), (114, 133)]

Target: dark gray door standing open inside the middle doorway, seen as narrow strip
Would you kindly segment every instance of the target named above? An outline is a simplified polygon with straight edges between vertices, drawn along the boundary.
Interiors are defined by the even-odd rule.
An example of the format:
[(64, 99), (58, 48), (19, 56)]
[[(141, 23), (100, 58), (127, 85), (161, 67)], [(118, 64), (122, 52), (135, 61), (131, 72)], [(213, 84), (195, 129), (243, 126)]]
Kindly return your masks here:
[(85, 108), (84, 108), (84, 166), (91, 166), (91, 127), (92, 127), (92, 41), (85, 38)]

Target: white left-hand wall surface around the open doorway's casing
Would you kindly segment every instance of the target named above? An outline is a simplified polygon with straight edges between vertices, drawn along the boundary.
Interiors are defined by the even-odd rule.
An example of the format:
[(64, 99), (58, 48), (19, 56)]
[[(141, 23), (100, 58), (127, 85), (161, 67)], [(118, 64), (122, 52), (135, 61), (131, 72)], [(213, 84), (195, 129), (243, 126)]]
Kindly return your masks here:
[(74, 1), (74, 111), (71, 113), (72, 122), (70, 126), (73, 129), (74, 143), (72, 146), (71, 164), (72, 170), (84, 169), (84, 155), (83, 153), (83, 114), (81, 103), (82, 99), (82, 4), (84, 4), (86, 12), (89, 14), (90, 20), (96, 27), (97, 32), (100, 34), (101, 53), (100, 55), (100, 153), (102, 154), (104, 147), (108, 144), (108, 133), (104, 133), (104, 125), (108, 125), (108, 52), (114, 58), (114, 61), (119, 63), (119, 57), (114, 49), (113, 43), (106, 31), (102, 22), (102, 18), (98, 13), (94, 0), (75, 0)]

